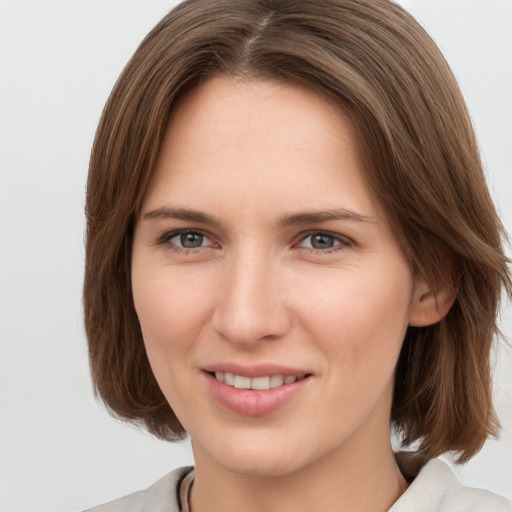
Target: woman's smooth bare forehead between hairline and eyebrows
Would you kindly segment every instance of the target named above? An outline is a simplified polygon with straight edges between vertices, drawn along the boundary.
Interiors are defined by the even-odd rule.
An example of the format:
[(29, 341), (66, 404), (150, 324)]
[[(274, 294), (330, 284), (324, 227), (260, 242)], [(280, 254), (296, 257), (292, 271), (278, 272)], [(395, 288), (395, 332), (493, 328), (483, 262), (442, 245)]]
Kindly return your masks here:
[[(220, 192), (236, 183), (243, 200), (257, 189), (281, 202), (311, 202), (314, 187), (323, 190), (317, 202), (326, 206), (339, 200), (327, 192), (343, 176), (343, 186), (364, 189), (358, 197), (366, 201), (356, 148), (348, 116), (309, 89), (214, 78), (175, 109), (146, 198), (163, 201), (172, 190), (192, 197), (199, 185)], [(356, 207), (357, 198), (351, 203)]]

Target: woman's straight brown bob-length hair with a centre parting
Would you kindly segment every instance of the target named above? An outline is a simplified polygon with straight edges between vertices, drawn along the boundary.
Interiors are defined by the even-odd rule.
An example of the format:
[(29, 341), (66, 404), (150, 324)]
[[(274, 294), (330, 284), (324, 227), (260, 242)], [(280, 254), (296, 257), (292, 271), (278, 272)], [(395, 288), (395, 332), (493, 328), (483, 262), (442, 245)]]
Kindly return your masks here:
[(160, 438), (185, 435), (146, 357), (131, 250), (173, 109), (214, 76), (300, 84), (351, 119), (370, 192), (413, 272), (433, 291), (457, 291), (443, 320), (408, 329), (392, 424), (426, 457), (453, 450), (467, 461), (499, 428), (490, 354), (501, 293), (511, 293), (506, 234), (456, 80), (422, 27), (388, 0), (187, 0), (141, 43), (90, 161), (84, 310), (96, 393)]

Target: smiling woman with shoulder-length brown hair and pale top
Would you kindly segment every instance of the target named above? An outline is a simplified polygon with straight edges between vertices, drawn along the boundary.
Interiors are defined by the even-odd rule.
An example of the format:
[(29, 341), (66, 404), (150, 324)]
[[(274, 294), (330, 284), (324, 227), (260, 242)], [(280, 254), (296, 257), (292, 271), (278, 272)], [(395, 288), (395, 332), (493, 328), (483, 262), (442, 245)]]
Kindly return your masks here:
[(94, 510), (510, 510), (435, 459), (498, 431), (511, 283), (464, 101), (401, 8), (179, 5), (107, 103), (87, 216), (96, 389), (195, 459)]

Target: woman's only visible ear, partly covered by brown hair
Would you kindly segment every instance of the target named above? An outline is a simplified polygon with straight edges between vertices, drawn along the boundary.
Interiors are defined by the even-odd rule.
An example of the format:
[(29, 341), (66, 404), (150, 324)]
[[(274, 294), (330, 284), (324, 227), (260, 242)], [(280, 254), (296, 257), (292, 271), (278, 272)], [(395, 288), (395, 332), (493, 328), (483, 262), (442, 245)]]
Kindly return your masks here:
[(444, 318), (457, 297), (458, 285), (440, 279), (435, 288), (418, 277), (414, 285), (409, 325), (426, 327)]

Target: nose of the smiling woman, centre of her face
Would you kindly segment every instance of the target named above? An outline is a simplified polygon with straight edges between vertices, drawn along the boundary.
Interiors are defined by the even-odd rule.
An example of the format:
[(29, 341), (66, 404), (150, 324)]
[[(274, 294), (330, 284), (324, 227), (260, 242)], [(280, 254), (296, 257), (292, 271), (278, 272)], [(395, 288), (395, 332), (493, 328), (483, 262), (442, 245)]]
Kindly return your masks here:
[(283, 273), (264, 251), (244, 251), (226, 262), (213, 313), (215, 331), (229, 342), (250, 348), (284, 336), (291, 326)]

